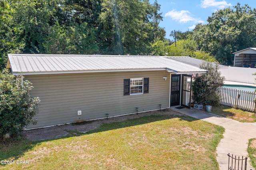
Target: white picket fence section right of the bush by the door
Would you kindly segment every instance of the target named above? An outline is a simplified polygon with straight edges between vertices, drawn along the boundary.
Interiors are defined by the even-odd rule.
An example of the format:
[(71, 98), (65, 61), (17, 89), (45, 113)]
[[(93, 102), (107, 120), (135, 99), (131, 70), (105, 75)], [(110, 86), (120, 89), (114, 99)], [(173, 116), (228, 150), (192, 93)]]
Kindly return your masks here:
[(220, 87), (220, 104), (245, 111), (254, 111), (256, 93)]

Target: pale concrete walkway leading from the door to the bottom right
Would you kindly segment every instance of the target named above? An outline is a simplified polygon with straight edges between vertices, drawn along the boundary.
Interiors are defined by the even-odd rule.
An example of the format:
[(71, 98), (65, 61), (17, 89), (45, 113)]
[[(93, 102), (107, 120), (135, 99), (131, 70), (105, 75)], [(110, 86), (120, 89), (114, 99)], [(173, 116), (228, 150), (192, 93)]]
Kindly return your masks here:
[[(225, 132), (223, 134), (224, 138), (220, 140), (216, 151), (218, 154), (217, 161), (219, 163), (220, 170), (228, 169), (228, 153), (237, 156), (248, 156), (248, 140), (250, 138), (256, 138), (256, 123), (240, 123), (239, 121), (221, 117), (203, 110), (187, 108), (176, 109), (175, 107), (171, 107), (170, 109), (225, 128)], [(254, 170), (250, 165), (249, 157), (248, 160), (247, 170)]]

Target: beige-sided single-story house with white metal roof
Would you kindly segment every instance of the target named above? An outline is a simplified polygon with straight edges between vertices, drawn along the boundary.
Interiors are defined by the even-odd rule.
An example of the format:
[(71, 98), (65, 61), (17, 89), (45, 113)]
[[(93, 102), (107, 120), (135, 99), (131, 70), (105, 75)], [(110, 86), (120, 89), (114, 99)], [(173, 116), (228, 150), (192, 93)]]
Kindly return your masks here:
[(161, 56), (8, 54), (40, 97), (28, 129), (169, 108), (190, 107), (194, 65)]

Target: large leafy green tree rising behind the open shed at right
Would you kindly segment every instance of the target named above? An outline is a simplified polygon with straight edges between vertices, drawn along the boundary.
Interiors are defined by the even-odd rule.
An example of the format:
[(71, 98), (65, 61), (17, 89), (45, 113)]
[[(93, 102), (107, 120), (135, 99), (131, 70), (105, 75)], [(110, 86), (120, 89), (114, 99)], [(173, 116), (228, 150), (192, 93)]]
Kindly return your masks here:
[(218, 10), (208, 17), (208, 24), (198, 24), (193, 38), (199, 48), (220, 63), (232, 65), (234, 51), (256, 45), (256, 9), (250, 6)]

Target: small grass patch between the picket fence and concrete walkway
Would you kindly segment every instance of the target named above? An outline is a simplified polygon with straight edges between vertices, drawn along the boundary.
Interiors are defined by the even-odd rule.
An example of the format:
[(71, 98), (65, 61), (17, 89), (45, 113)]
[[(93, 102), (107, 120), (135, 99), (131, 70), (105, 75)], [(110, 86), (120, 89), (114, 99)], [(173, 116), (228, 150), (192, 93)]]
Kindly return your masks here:
[(228, 107), (224, 105), (213, 106), (212, 113), (223, 116), (223, 117), (227, 117), (230, 119), (234, 119), (240, 122), (249, 122), (249, 123), (256, 122), (256, 116), (254, 113), (248, 112), (248, 111), (242, 111), (241, 109), (234, 109), (232, 107)]

